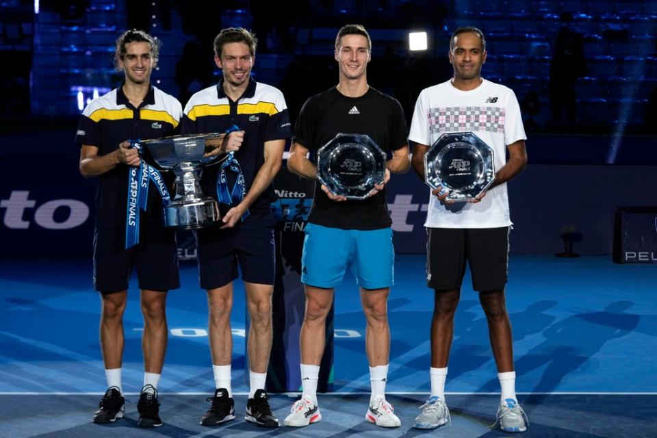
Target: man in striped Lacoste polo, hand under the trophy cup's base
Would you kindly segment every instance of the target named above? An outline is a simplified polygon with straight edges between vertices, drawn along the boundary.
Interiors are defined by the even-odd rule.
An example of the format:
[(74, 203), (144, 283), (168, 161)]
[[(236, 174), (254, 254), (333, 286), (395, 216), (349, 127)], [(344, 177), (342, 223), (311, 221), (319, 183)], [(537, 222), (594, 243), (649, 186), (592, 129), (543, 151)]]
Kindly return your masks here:
[(227, 192), (220, 228), (196, 233), (201, 287), (207, 289), (209, 342), (216, 390), (201, 418), (216, 426), (235, 418), (231, 389), (231, 307), (237, 264), (246, 287), (250, 318), (248, 364), (250, 393), (246, 417), (260, 427), (278, 427), (265, 391), (272, 348), (274, 227), (270, 204), (276, 200), (272, 180), (281, 168), (290, 136), (283, 94), (250, 76), (257, 40), (250, 31), (231, 27), (214, 40), (214, 60), (222, 70), (216, 86), (194, 94), (185, 105), (183, 133), (231, 131), (212, 153), (227, 154), (221, 165), (203, 171), (201, 187), (218, 201)]

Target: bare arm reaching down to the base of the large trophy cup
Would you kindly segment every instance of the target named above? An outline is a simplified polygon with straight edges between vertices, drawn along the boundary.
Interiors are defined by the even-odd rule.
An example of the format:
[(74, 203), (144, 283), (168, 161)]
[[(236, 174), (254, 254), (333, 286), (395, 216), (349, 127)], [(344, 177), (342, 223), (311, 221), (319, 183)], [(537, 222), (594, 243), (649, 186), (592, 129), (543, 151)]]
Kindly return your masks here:
[(235, 207), (229, 209), (229, 211), (224, 215), (222, 220), (224, 225), (222, 228), (231, 228), (235, 226), (238, 220), (244, 214), (244, 211), (253, 204), (253, 201), (256, 200), (262, 192), (274, 181), (276, 173), (281, 169), (281, 163), (283, 162), (283, 150), (285, 149), (285, 139), (281, 140), (270, 140), (264, 144), (264, 155), (265, 162), (259, 168), (258, 172), (255, 174), (253, 183), (249, 188), (248, 192), (244, 195), (244, 199)]

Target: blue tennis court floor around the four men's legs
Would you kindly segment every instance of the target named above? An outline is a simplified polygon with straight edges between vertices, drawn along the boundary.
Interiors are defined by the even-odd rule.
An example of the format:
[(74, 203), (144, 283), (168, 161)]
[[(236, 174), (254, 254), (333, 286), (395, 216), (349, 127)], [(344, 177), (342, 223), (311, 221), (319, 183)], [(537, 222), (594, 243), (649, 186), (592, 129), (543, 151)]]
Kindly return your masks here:
[[(519, 400), (530, 416), (524, 436), (657, 436), (657, 266), (617, 265), (608, 256), (576, 260), (512, 257), (507, 287)], [(183, 287), (168, 296), (169, 346), (159, 385), (157, 430), (139, 430), (137, 396), (127, 418), (103, 428), (90, 422), (105, 390), (99, 352), (99, 298), (90, 261), (3, 260), (0, 263), (0, 437), (88, 436), (413, 436), (426, 398), (432, 292), (424, 255), (398, 255), (389, 298), (391, 360), (387, 391), (402, 427), (383, 430), (364, 420), (369, 391), (365, 320), (355, 282), (336, 292), (335, 385), (320, 396), (324, 420), (311, 428), (267, 431), (240, 420), (244, 379), (244, 294), (238, 282), (233, 327), (233, 391), (237, 420), (219, 429), (198, 425), (213, 388), (207, 347), (207, 304), (196, 266), (181, 265)], [(124, 318), (123, 387), (142, 384), (142, 317), (131, 285)], [(485, 317), (465, 281), (456, 314), (446, 391), (452, 426), (429, 435), (480, 437), (498, 404), (498, 381)], [(59, 395), (58, 395), (59, 394)], [(285, 417), (294, 397), (272, 395)], [(242, 411), (240, 411), (240, 409)], [(421, 435), (421, 434), (420, 434)]]

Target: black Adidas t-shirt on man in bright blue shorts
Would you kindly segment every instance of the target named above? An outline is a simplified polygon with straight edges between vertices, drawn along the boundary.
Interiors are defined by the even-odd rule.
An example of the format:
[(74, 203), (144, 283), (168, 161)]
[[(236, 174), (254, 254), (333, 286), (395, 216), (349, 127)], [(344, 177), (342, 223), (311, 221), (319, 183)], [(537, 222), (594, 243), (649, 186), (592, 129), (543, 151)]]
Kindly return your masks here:
[[(333, 87), (303, 105), (293, 142), (306, 147), (311, 159), (337, 133), (367, 134), (388, 156), (407, 145), (406, 117), (396, 99), (370, 87), (360, 97), (348, 97)], [(331, 201), (315, 182), (308, 222), (341, 229), (373, 230), (392, 224), (385, 189), (363, 200)]]

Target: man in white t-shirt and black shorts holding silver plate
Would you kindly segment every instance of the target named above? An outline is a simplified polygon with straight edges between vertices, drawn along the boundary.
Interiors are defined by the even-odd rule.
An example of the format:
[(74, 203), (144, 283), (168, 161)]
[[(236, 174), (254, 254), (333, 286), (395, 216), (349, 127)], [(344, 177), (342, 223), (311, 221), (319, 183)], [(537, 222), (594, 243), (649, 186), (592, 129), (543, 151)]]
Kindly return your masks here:
[[(435, 290), (431, 324), (431, 396), (415, 419), (415, 428), (446, 424), (447, 364), (465, 263), (488, 320), (491, 347), (498, 366), (502, 399), (496, 424), (505, 432), (522, 432), (526, 423), (515, 396), (511, 323), (506, 313), (504, 285), (508, 265), (511, 218), (506, 181), (527, 163), (525, 131), (515, 94), (481, 77), (486, 40), (476, 27), (461, 27), (450, 38), (449, 59), (454, 77), (422, 90), (415, 104), (409, 141), (413, 168), (424, 181), (424, 154), (450, 132), (474, 133), (493, 148), (495, 181), (467, 203), (454, 203), (443, 188), (431, 191), (425, 227), (427, 285)], [(506, 159), (508, 150), (509, 158)]]

